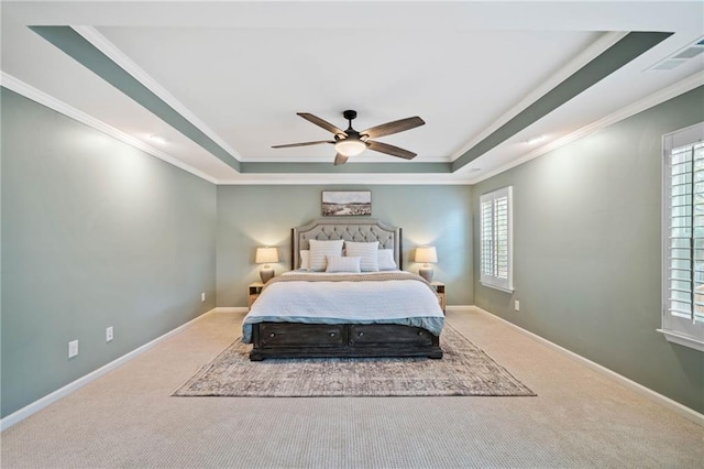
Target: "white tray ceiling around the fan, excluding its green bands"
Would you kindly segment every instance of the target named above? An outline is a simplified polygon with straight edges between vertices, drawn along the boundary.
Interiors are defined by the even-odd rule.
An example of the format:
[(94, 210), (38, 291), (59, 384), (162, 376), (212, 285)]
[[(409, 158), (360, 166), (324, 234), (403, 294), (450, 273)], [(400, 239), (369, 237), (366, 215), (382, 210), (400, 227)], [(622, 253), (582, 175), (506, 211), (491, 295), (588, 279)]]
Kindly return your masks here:
[[(471, 184), (704, 84), (704, 54), (649, 70), (703, 39), (702, 1), (2, 1), (0, 8), (2, 86), (219, 184)], [(91, 72), (28, 28), (50, 25), (72, 26), (222, 152), (196, 143), (106, 81), (109, 72)], [(416, 163), (449, 167), (632, 31), (674, 34), (462, 167), (407, 173)], [(340, 170), (332, 145), (271, 148), (331, 137), (296, 112), (345, 129), (345, 109), (359, 112), (356, 130), (420, 116), (426, 126), (378, 139), (418, 156), (407, 162), (366, 151)], [(526, 142), (538, 135), (544, 139)], [(237, 171), (238, 162), (268, 164)], [(290, 172), (279, 164), (296, 162), (308, 165)], [(355, 163), (364, 162), (375, 164), (358, 172)]]

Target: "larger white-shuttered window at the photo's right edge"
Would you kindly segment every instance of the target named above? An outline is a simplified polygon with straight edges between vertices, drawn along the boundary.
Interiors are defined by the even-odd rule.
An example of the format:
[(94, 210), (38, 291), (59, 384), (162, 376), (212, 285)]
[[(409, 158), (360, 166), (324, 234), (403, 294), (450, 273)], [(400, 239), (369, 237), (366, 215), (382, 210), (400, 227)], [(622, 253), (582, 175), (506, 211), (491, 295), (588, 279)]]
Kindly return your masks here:
[(663, 308), (668, 340), (704, 351), (704, 123), (666, 135)]

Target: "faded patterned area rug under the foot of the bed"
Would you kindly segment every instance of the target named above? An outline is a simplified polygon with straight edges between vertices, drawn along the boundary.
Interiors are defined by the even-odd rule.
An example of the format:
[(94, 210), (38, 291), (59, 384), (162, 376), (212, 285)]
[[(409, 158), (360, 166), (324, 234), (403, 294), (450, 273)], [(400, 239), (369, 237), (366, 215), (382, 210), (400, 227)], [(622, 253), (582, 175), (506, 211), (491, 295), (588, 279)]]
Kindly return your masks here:
[(174, 396), (535, 396), (504, 367), (446, 324), (443, 357), (311, 358), (250, 361), (235, 340)]

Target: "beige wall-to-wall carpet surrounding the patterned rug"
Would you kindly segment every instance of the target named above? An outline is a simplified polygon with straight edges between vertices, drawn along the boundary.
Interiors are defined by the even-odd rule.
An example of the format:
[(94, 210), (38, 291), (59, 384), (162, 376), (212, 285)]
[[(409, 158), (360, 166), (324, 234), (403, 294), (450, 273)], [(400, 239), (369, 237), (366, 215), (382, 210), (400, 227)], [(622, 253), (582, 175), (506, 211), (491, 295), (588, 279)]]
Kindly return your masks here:
[(491, 316), (448, 321), (537, 397), (172, 397), (240, 335), (210, 314), (0, 435), (14, 468), (694, 468), (704, 428)]

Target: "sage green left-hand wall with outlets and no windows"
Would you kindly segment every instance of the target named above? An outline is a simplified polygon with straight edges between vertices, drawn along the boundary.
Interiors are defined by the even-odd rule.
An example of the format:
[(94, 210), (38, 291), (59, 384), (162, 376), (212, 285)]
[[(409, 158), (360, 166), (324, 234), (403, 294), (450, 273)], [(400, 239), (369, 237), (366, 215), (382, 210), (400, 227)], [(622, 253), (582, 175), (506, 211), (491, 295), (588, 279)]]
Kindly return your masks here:
[(1, 99), (4, 417), (215, 307), (217, 193), (4, 88)]

